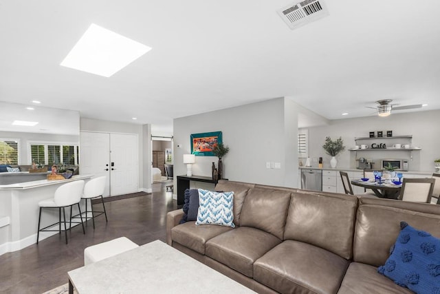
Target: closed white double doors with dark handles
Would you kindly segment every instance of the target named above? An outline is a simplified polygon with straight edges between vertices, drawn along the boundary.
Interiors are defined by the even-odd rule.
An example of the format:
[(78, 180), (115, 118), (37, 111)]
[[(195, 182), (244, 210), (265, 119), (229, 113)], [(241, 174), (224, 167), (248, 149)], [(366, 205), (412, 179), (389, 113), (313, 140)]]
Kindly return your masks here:
[(137, 135), (80, 132), (80, 173), (107, 176), (103, 196), (137, 192)]

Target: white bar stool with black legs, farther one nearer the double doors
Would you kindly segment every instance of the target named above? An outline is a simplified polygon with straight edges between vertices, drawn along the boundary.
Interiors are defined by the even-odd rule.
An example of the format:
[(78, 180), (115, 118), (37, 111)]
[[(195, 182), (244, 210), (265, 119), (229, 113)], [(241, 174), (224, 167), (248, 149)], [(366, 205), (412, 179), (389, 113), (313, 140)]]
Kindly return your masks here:
[[(94, 223), (94, 229), (95, 229), (95, 218), (96, 216), (100, 216), (101, 214), (105, 215), (105, 221), (107, 220), (107, 212), (105, 211), (105, 205), (104, 205), (104, 198), (102, 198), (102, 194), (104, 193), (105, 189), (105, 182), (106, 182), (106, 176), (100, 176), (98, 178), (93, 178), (89, 180), (84, 186), (84, 193), (83, 196), (81, 196), (81, 199), (85, 200), (85, 220), (87, 224), (87, 220), (91, 219)], [(94, 198), (101, 198), (102, 202), (102, 208), (104, 211), (94, 211), (94, 206), (91, 204), (91, 200)], [(87, 200), (90, 200), (90, 207), (91, 207), (91, 218), (88, 217), (87, 214)], [(74, 218), (78, 218), (78, 215), (74, 216)]]

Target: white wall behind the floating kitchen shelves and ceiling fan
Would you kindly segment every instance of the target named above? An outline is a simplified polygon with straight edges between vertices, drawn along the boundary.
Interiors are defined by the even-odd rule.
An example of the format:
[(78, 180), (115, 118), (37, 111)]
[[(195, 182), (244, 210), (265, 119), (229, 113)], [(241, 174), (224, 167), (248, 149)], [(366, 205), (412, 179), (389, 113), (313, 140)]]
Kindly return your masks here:
[[(347, 151), (354, 147), (355, 137), (369, 137), (369, 132), (392, 130), (393, 136), (412, 135), (412, 146), (421, 147), (421, 151), (413, 151), (413, 158), (410, 159), (410, 151), (361, 151), (357, 152), (358, 158), (372, 158), (379, 165), (380, 158), (404, 158), (409, 161), (409, 168), (412, 171), (434, 171), (434, 159), (440, 158), (440, 111), (429, 112), (408, 112), (399, 114), (394, 112), (391, 116), (381, 118), (379, 116), (368, 116), (364, 118), (350, 118), (331, 120), (328, 125), (320, 127), (309, 127), (309, 156), (311, 158), (322, 157), (324, 167), (330, 166), (330, 156), (325, 154), (322, 145), (325, 137), (330, 136), (333, 140), (342, 136), (345, 151), (342, 151), (336, 158), (338, 167), (357, 167), (355, 153)], [(386, 140), (364, 141), (363, 144), (385, 143)], [(393, 139), (393, 143), (404, 143), (405, 140)], [(388, 144), (387, 144), (388, 145)], [(305, 163), (305, 162), (303, 162)], [(317, 162), (314, 162), (314, 166)]]

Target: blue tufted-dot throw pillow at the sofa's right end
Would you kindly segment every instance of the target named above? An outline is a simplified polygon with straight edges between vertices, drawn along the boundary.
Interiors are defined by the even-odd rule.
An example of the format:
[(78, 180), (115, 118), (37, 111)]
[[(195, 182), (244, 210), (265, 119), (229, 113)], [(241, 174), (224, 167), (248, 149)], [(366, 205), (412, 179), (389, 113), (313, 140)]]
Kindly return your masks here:
[(400, 227), (390, 257), (377, 272), (415, 293), (440, 293), (440, 239), (406, 222)]

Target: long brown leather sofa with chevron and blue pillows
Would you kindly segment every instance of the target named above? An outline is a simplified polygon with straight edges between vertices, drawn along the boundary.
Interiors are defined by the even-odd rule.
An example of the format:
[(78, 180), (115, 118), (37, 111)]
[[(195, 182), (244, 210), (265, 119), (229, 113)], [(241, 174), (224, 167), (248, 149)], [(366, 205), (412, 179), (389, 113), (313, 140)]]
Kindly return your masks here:
[(221, 180), (236, 228), (179, 224), (167, 242), (258, 293), (412, 293), (377, 273), (399, 222), (440, 238), (440, 205)]

